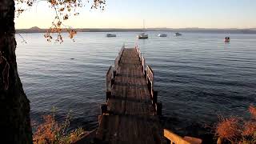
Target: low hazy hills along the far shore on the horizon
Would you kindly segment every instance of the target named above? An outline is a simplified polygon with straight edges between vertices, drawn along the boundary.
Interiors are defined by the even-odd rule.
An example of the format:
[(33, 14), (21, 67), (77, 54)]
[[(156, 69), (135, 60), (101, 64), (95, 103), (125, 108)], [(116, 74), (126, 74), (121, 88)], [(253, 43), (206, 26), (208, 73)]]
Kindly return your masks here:
[[(18, 29), (16, 33), (45, 33), (47, 29), (40, 29), (38, 26), (31, 27), (30, 29)], [(75, 29), (78, 32), (140, 32), (142, 29), (115, 29), (115, 28), (90, 28), (90, 29)], [(205, 28), (148, 28), (147, 31), (170, 31), (170, 32), (193, 32), (193, 33), (218, 33), (218, 34), (256, 34), (256, 28), (250, 29), (205, 29)]]

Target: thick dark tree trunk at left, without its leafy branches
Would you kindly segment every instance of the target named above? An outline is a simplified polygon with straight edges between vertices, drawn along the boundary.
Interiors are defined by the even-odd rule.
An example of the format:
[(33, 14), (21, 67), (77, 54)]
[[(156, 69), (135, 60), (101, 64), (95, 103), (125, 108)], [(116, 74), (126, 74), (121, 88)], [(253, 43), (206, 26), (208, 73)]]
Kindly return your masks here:
[(18, 77), (14, 0), (0, 0), (0, 143), (32, 143), (30, 102)]

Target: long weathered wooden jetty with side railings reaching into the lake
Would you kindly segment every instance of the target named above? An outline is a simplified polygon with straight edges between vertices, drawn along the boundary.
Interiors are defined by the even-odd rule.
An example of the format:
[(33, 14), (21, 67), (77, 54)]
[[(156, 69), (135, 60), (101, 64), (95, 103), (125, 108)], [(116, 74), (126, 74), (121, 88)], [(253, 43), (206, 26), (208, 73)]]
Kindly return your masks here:
[[(162, 103), (154, 90), (154, 72), (146, 66), (138, 46), (118, 53), (106, 73), (106, 103), (101, 105), (98, 129), (76, 142), (110, 144), (200, 144), (201, 139), (180, 137), (163, 129), (158, 116)], [(166, 137), (166, 138), (165, 138)], [(87, 140), (86, 140), (87, 138)], [(88, 140), (89, 139), (89, 140)]]

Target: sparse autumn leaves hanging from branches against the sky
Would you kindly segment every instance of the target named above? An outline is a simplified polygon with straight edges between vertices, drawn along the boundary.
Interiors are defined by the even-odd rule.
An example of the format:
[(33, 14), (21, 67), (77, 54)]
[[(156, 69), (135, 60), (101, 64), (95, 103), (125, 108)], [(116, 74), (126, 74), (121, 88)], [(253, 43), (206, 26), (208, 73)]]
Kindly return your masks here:
[[(17, 17), (25, 10), (28, 10), (31, 6), (34, 6), (38, 2), (47, 2), (49, 7), (54, 10), (54, 20), (50, 28), (44, 34), (44, 37), (48, 42), (53, 39), (53, 33), (57, 34), (56, 42), (63, 42), (62, 32), (69, 33), (69, 37), (74, 41), (74, 35), (77, 32), (66, 26), (64, 22), (70, 18), (70, 16), (78, 15), (78, 8), (82, 8), (89, 0), (14, 0), (16, 6)], [(106, 0), (93, 0), (91, 9), (104, 10), (106, 6)]]

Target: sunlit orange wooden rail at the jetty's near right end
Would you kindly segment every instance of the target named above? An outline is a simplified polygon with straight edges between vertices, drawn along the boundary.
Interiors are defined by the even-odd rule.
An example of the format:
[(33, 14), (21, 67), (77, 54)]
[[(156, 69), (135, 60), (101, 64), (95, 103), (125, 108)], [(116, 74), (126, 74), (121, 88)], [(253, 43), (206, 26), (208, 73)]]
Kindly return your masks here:
[(177, 134), (174, 134), (170, 130), (163, 130), (163, 135), (170, 140), (170, 144), (192, 144), (190, 142), (187, 142), (185, 139), (183, 139), (181, 136), (178, 136)]

